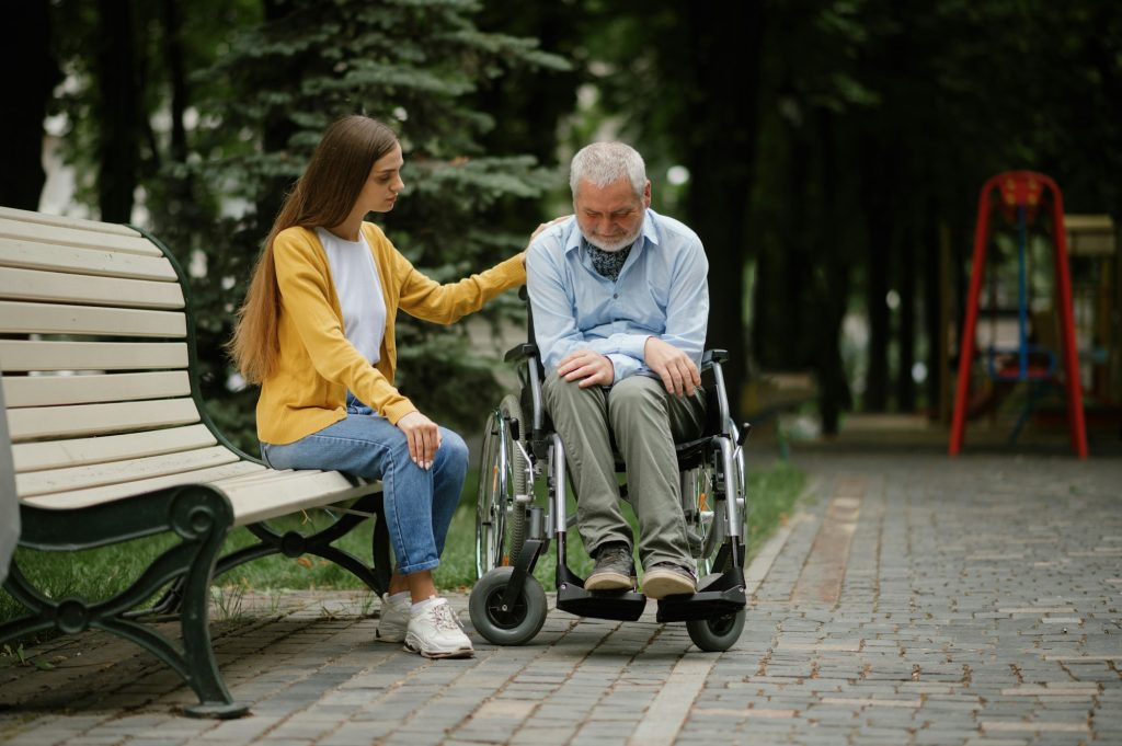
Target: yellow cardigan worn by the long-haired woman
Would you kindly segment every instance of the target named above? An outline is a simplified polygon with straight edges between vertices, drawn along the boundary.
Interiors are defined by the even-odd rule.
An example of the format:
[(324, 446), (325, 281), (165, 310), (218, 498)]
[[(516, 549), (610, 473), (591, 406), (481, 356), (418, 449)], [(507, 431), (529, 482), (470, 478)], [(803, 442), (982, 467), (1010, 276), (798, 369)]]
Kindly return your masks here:
[(266, 443), (292, 443), (346, 418), (348, 390), (396, 424), (417, 408), (394, 388), (397, 310), (450, 324), (526, 282), (522, 257), (515, 256), (478, 275), (441, 285), (414, 269), (377, 225), (362, 223), (361, 230), (386, 300), (386, 333), (374, 366), (343, 333), (335, 284), (315, 232), (288, 228), (273, 241), (280, 291), (280, 354), (275, 370), (261, 381), (257, 400), (257, 436)]

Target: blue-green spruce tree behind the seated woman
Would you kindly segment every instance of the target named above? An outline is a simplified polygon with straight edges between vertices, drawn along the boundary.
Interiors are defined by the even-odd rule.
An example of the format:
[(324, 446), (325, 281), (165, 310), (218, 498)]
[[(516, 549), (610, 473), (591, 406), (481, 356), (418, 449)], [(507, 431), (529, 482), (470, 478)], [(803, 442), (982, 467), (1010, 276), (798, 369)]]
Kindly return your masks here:
[[(432, 277), (456, 280), (525, 246), (534, 219), (508, 234), (489, 231), (479, 215), (505, 199), (537, 196), (550, 176), (532, 157), (482, 151), (478, 138), (494, 121), (470, 107), (469, 94), (511, 68), (564, 67), (533, 39), (479, 31), (473, 2), (298, 0), (280, 9), (238, 28), (193, 77), (223, 84), (202, 89), (194, 150), (203, 157), (168, 178), (187, 178), (210, 214), (153, 205), (158, 234), (174, 237), (166, 242), (183, 264), (205, 265), (192, 277), (205, 398), (234, 440), (250, 445), (252, 395), (229, 385), (221, 346), (260, 241), (323, 129), (360, 112), (399, 131), (407, 187), (384, 219), (387, 234)], [(473, 423), (458, 392), (494, 393), (490, 361), (472, 353), (461, 328), (402, 320), (397, 330), (403, 390), (438, 420)]]

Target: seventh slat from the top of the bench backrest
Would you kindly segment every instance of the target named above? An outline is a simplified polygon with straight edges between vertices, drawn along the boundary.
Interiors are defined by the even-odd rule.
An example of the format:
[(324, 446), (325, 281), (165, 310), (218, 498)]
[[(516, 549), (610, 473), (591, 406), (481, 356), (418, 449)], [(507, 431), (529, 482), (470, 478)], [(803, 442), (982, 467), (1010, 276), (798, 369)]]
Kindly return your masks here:
[(132, 402), (191, 396), (185, 370), (107, 376), (15, 376), (3, 378), (9, 408)]

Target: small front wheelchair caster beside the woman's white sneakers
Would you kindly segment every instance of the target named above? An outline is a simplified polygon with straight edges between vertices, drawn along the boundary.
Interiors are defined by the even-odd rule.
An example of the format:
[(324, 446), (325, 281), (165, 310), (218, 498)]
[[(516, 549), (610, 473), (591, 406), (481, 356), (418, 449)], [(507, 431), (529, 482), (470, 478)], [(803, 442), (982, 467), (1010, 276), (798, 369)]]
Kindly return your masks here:
[(503, 608), (503, 596), (514, 568), (495, 568), (485, 573), (468, 599), (468, 613), (476, 632), (496, 645), (523, 645), (534, 638), (545, 624), (549, 607), (545, 591), (533, 575), (524, 575), (522, 593), (511, 608)]

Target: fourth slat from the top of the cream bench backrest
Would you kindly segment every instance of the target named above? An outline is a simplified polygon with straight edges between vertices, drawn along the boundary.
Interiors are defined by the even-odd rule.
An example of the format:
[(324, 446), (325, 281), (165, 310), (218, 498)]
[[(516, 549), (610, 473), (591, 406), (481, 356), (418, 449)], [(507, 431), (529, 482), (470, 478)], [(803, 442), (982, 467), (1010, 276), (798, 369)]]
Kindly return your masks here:
[(139, 308), (182, 308), (178, 283), (0, 267), (0, 298)]

